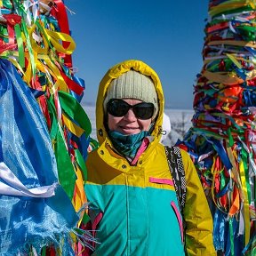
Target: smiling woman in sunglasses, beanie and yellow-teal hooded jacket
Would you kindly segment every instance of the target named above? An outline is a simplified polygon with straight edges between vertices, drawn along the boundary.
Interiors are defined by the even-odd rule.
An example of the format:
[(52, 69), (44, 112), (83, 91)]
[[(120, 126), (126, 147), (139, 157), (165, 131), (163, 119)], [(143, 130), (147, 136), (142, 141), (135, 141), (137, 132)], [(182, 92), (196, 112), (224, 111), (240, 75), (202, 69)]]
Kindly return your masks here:
[(93, 255), (215, 255), (212, 216), (196, 169), (183, 150), (187, 194), (182, 223), (159, 143), (163, 111), (160, 80), (140, 60), (117, 64), (100, 82), (100, 147), (88, 156), (85, 184), (96, 239)]

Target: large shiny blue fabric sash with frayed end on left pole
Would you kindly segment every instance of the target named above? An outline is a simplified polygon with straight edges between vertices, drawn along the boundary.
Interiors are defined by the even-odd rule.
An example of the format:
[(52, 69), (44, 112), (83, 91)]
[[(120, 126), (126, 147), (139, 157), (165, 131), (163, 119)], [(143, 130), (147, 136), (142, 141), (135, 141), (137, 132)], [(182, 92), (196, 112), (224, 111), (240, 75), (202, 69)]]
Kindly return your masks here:
[(68, 238), (78, 217), (58, 184), (56, 160), (44, 116), (10, 61), (0, 60), (0, 77), (0, 163), (6, 166), (6, 173), (18, 180), (13, 184), (13, 180), (3, 176), (0, 185), (17, 193), (21, 187), (31, 192), (50, 186), (55, 194), (40, 197), (29, 192), (26, 196), (10, 196), (2, 192), (0, 252), (22, 254), (32, 245), (40, 253), (44, 245), (64, 244), (63, 255), (72, 255)]

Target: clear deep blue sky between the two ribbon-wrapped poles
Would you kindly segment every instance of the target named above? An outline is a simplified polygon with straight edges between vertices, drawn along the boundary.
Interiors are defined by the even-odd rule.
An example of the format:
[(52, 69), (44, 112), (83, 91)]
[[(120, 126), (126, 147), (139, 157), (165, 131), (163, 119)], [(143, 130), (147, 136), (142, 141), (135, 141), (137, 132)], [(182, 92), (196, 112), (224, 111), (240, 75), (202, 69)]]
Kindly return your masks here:
[[(193, 3), (193, 4), (191, 4)], [(203, 59), (208, 1), (65, 0), (76, 41), (73, 66), (84, 79), (84, 102), (95, 103), (108, 68), (143, 60), (162, 81), (166, 108), (193, 108), (193, 84)]]

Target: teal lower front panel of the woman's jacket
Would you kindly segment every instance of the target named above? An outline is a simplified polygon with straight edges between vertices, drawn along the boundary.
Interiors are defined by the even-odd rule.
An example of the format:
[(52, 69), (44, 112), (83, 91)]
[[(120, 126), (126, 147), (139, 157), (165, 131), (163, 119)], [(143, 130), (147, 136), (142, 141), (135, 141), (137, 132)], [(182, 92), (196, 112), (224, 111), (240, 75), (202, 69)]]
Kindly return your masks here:
[(184, 255), (175, 191), (92, 184), (85, 191), (92, 223), (102, 214), (92, 255)]

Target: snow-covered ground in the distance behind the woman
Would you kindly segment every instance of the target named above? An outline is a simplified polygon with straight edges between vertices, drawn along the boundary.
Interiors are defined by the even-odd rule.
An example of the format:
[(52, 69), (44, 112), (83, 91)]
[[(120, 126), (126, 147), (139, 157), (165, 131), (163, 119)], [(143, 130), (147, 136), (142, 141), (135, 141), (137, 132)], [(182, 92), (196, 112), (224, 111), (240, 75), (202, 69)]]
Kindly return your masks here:
[[(95, 120), (95, 108), (90, 105), (83, 105), (83, 108), (89, 116), (92, 124), (92, 134), (91, 137), (97, 140), (96, 135), (96, 120)], [(169, 116), (171, 121), (171, 126), (174, 124), (185, 124), (185, 130), (188, 131), (189, 127), (191, 126), (191, 118), (194, 114), (193, 110), (188, 109), (169, 109), (166, 108), (164, 113)], [(166, 139), (163, 141), (165, 145), (173, 145), (178, 139), (182, 140), (182, 137), (178, 132), (175, 132), (174, 129), (171, 130), (171, 134), (166, 136)]]

